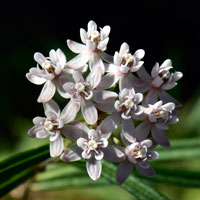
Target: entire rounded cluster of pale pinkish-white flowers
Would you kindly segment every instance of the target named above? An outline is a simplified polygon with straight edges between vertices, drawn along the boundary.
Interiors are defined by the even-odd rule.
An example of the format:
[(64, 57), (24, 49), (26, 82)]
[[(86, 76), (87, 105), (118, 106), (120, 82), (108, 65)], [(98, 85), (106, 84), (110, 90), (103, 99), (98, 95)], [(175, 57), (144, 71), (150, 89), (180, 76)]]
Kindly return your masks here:
[[(67, 40), (77, 54), (69, 61), (60, 49), (51, 50), (49, 56), (34, 54), (37, 65), (26, 77), (44, 84), (37, 101), (45, 116), (33, 119), (28, 135), (48, 137), (51, 157), (64, 162), (85, 159), (93, 180), (101, 175), (102, 159), (118, 162), (116, 179), (122, 184), (134, 167), (144, 176), (155, 176), (149, 161), (159, 155), (153, 149), (170, 146), (165, 130), (178, 122), (181, 105), (166, 91), (183, 75), (171, 72), (169, 59), (160, 66), (156, 63), (149, 74), (142, 61), (144, 50), (131, 53), (127, 43), (114, 56), (108, 55), (110, 30), (110, 26), (98, 29), (90, 21), (87, 30), (80, 29), (82, 43)], [(62, 111), (52, 99), (56, 90), (68, 102)], [(76, 119), (78, 113), (81, 121)], [(71, 141), (68, 146), (65, 140)]]

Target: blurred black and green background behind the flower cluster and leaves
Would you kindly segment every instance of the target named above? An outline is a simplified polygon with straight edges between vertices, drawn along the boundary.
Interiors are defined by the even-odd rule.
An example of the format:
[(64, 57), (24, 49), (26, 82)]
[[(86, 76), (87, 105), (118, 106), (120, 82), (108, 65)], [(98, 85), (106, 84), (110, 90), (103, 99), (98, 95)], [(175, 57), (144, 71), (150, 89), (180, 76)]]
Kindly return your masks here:
[[(114, 54), (123, 42), (130, 45), (134, 53), (142, 48), (146, 54), (145, 67), (150, 71), (155, 62), (160, 64), (167, 58), (174, 70), (184, 76), (178, 86), (170, 91), (183, 107), (180, 122), (171, 127), (168, 136), (189, 138), (200, 135), (199, 99), (199, 47), (200, 12), (197, 3), (190, 1), (4, 1), (1, 4), (1, 98), (0, 98), (0, 160), (19, 151), (41, 145), (46, 141), (30, 139), (27, 130), (32, 118), (43, 116), (41, 104), (36, 102), (41, 86), (31, 84), (25, 74), (36, 65), (35, 52), (48, 55), (51, 49), (61, 48), (68, 59), (66, 39), (80, 42), (79, 29), (87, 29), (89, 20), (99, 27), (111, 26), (107, 52)], [(61, 105), (65, 100), (56, 97)], [(191, 128), (192, 127), (192, 128)], [(193, 167), (200, 169), (199, 161)], [(160, 186), (161, 190), (165, 186)], [(77, 195), (77, 191), (84, 195)], [(104, 191), (104, 192), (102, 192)], [(111, 199), (107, 195), (116, 192), (113, 199), (133, 199), (128, 193), (115, 187), (104, 189), (68, 189), (62, 192), (44, 192), (34, 199)], [(171, 199), (200, 199), (197, 189), (168, 186)], [(180, 198), (179, 198), (180, 199)]]

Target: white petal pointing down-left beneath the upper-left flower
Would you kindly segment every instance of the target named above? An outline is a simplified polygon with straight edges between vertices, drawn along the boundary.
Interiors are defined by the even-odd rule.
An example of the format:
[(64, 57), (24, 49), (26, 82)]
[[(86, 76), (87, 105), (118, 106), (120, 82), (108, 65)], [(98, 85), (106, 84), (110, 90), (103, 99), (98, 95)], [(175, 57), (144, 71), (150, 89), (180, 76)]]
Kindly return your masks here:
[(54, 83), (52, 81), (47, 81), (43, 86), (37, 101), (39, 103), (47, 102), (54, 96), (55, 92), (56, 86), (54, 85)]

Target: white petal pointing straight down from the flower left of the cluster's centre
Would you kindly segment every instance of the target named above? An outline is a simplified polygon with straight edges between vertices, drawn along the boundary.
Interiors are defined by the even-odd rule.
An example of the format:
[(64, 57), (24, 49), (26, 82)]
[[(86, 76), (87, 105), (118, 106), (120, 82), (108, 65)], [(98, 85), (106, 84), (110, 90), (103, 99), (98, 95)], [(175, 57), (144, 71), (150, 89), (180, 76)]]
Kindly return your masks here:
[(88, 124), (95, 124), (98, 119), (97, 109), (91, 101), (81, 101), (81, 111)]

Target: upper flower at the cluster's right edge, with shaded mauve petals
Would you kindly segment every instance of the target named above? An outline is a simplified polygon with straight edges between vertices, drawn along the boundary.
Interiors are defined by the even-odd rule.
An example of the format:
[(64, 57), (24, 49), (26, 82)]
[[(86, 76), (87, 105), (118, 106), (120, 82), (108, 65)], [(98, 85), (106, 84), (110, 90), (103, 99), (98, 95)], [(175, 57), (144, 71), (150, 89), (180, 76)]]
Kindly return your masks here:
[(160, 98), (164, 103), (174, 102), (176, 106), (181, 106), (175, 98), (165, 91), (174, 88), (177, 81), (183, 76), (181, 72), (170, 73), (169, 70), (172, 68), (171, 60), (167, 59), (161, 66), (158, 63), (155, 64), (151, 76), (144, 67), (137, 72), (141, 80), (134, 76), (133, 83), (136, 91), (149, 91), (144, 99), (145, 105), (154, 104)]

